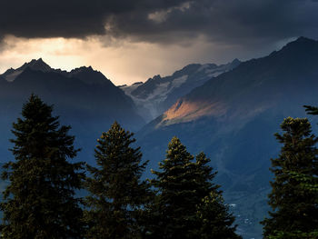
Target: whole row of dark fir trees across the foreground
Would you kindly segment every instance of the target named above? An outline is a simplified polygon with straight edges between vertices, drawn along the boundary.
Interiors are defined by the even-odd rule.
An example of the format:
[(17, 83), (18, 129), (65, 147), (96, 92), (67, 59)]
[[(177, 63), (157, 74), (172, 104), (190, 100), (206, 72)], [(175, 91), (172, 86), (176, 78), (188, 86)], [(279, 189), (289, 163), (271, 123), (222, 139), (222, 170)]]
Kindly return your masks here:
[[(318, 138), (306, 118), (281, 127), (263, 236), (318, 238)], [(3, 238), (242, 238), (204, 153), (190, 154), (174, 137), (154, 177), (143, 179), (148, 162), (120, 124), (97, 140), (95, 166), (70, 162), (79, 149), (69, 130), (37, 95), (23, 105), (12, 130), (15, 160), (2, 174)]]

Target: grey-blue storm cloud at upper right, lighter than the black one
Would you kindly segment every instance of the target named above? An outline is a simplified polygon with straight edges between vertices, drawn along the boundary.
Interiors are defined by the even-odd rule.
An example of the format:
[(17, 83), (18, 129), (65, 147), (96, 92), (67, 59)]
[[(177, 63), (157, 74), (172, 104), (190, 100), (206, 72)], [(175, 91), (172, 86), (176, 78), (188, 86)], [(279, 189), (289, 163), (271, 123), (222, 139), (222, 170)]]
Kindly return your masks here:
[[(160, 12), (159, 12), (160, 13)], [(197, 0), (189, 8), (172, 9), (163, 21), (149, 15), (118, 15), (117, 35), (146, 41), (178, 41), (205, 35), (212, 41), (241, 44), (297, 35), (317, 37), (318, 3), (306, 0)]]

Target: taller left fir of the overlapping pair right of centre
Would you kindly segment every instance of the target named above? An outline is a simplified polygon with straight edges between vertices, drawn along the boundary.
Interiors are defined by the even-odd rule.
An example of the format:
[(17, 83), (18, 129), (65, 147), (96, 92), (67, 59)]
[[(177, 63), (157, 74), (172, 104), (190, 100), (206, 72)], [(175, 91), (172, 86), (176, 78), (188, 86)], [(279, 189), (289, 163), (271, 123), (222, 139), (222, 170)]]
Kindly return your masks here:
[(166, 159), (159, 164), (162, 172), (152, 184), (158, 189), (153, 205), (154, 223), (151, 238), (187, 238), (195, 224), (197, 204), (194, 174), (194, 156), (186, 151), (176, 137), (168, 144)]

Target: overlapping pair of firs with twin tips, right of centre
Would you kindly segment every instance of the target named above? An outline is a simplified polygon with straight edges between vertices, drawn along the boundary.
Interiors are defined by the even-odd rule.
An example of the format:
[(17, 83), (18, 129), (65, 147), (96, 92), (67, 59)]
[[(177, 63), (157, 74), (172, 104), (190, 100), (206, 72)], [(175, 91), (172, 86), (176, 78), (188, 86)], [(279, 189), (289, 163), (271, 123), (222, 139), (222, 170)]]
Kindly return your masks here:
[(150, 209), (149, 238), (240, 238), (231, 227), (234, 217), (223, 204), (219, 185), (212, 182), (216, 173), (209, 162), (203, 153), (194, 162), (177, 137), (168, 144), (161, 172), (153, 171), (157, 195)]

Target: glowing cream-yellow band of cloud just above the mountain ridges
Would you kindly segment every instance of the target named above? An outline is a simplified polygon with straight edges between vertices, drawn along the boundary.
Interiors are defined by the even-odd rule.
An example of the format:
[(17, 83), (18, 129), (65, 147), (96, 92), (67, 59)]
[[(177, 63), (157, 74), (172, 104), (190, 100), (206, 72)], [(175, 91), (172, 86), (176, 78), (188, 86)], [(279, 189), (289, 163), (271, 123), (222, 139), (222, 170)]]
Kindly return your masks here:
[[(204, 38), (187, 45), (162, 45), (121, 41), (120, 45), (104, 46), (98, 38), (65, 39), (5, 37), (7, 47), (0, 54), (0, 74), (10, 67), (17, 68), (31, 59), (42, 57), (53, 68), (71, 70), (92, 65), (115, 85), (146, 81), (154, 75), (171, 75), (192, 63), (226, 63), (232, 61), (234, 47), (220, 47)], [(272, 49), (273, 50), (273, 49)], [(254, 55), (254, 54), (253, 54)], [(246, 55), (236, 55), (243, 59)], [(247, 55), (249, 56), (249, 55)]]

